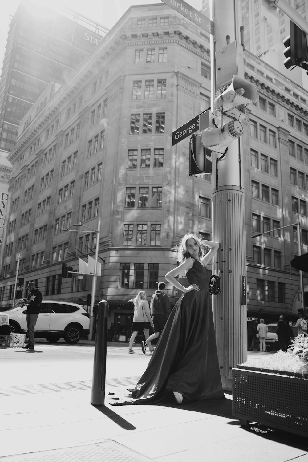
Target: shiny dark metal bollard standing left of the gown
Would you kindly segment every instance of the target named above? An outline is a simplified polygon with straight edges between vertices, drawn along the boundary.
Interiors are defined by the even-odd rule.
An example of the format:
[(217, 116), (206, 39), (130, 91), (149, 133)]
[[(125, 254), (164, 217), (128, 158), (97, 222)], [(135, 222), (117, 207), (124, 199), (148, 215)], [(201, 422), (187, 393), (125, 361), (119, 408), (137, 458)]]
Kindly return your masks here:
[(106, 356), (108, 335), (108, 308), (106, 300), (102, 300), (97, 308), (97, 324), (91, 387), (91, 404), (104, 405), (106, 383)]

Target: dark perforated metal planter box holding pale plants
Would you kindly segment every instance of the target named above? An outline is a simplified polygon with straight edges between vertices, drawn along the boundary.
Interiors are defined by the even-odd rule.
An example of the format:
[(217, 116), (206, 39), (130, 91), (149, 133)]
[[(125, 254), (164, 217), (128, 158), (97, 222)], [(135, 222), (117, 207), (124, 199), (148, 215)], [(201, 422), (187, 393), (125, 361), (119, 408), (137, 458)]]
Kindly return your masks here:
[(233, 416), (308, 438), (308, 379), (253, 369), (232, 369)]

